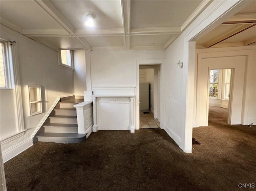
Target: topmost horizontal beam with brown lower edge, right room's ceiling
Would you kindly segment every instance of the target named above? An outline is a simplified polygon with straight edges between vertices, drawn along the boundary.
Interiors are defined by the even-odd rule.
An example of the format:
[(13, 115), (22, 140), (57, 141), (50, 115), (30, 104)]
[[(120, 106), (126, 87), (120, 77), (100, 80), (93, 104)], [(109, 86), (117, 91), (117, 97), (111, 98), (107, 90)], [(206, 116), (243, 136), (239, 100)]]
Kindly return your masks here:
[(222, 23), (224, 24), (242, 24), (242, 23), (254, 23), (256, 22), (256, 13), (252, 14), (237, 14), (234, 15), (225, 22)]

